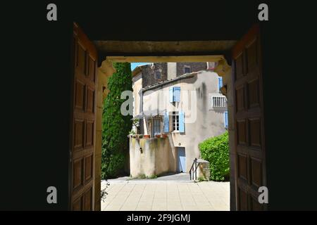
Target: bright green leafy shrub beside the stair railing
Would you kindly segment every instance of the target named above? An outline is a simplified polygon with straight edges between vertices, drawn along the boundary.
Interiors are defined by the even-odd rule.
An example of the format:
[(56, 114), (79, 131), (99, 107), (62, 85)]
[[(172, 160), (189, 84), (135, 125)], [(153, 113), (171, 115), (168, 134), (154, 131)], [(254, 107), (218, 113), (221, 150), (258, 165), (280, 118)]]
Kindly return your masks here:
[(201, 158), (209, 161), (210, 179), (223, 181), (230, 174), (228, 131), (199, 143)]

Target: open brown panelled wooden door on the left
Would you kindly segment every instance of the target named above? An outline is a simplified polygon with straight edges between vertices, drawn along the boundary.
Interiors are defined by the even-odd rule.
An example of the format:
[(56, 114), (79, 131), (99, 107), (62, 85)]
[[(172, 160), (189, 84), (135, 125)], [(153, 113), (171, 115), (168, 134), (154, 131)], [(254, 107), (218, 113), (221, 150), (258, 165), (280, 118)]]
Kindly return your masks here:
[(94, 210), (97, 51), (75, 23), (73, 57), (70, 210)]

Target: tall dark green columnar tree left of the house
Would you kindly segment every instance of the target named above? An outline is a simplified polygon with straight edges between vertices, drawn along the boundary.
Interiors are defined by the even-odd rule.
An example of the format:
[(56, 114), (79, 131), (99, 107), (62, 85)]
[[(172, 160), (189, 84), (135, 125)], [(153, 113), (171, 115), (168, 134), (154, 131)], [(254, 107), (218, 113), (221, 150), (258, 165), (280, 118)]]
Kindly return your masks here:
[(108, 79), (109, 93), (104, 100), (102, 117), (101, 177), (117, 176), (123, 170), (128, 150), (128, 134), (132, 128), (132, 115), (123, 116), (120, 108), (126, 99), (123, 91), (132, 91), (130, 63), (113, 63), (116, 72)]

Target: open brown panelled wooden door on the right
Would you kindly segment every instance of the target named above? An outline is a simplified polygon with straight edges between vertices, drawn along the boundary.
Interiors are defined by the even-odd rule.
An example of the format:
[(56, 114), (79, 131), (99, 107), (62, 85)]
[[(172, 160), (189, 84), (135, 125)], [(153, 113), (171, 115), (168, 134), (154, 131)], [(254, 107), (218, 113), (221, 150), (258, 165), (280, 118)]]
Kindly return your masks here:
[(266, 186), (259, 25), (254, 25), (233, 48), (232, 82), (237, 210), (266, 210), (266, 205), (258, 201), (259, 187)]

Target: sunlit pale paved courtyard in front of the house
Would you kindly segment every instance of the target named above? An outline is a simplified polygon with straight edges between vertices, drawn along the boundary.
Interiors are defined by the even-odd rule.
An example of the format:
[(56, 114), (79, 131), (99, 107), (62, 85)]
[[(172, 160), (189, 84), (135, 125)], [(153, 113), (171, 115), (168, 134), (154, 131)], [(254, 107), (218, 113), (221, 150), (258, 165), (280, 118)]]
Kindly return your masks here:
[[(229, 182), (194, 183), (176, 174), (158, 179), (109, 180), (108, 195), (101, 210), (114, 211), (194, 211), (230, 210)], [(185, 177), (185, 176), (183, 176)], [(106, 186), (101, 181), (101, 188)]]

